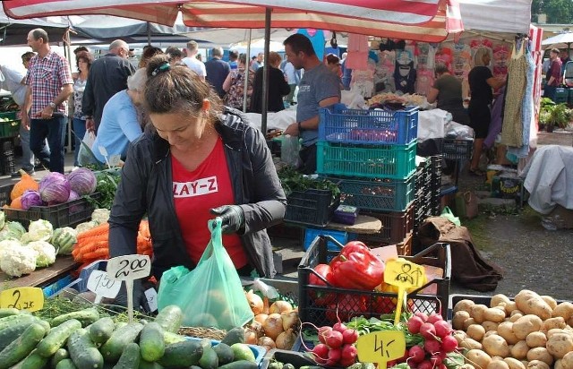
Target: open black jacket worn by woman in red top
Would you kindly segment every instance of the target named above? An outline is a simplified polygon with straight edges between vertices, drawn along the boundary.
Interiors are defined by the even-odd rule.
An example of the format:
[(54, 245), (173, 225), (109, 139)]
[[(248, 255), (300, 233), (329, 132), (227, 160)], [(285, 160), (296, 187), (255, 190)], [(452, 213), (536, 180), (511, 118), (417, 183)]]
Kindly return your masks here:
[[(216, 127), (225, 145), (235, 202), (244, 210), (244, 234), (239, 236), (252, 266), (272, 278), (276, 271), (266, 228), (282, 221), (286, 197), (262, 133), (244, 119), (238, 110), (227, 108)], [(176, 265), (193, 269), (175, 215), (169, 144), (157, 133), (145, 133), (128, 150), (109, 218), (110, 257), (135, 253), (137, 230), (146, 213), (153, 275), (159, 279)]]

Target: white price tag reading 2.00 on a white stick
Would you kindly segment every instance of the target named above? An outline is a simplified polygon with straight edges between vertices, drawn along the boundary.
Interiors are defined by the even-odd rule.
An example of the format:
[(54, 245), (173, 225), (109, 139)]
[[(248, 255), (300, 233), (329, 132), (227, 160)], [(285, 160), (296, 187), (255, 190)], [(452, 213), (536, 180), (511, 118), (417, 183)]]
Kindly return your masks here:
[(133, 280), (146, 278), (150, 275), (150, 257), (137, 254), (117, 256), (107, 261), (106, 270), (109, 279), (125, 281), (127, 314), (129, 322), (133, 322)]

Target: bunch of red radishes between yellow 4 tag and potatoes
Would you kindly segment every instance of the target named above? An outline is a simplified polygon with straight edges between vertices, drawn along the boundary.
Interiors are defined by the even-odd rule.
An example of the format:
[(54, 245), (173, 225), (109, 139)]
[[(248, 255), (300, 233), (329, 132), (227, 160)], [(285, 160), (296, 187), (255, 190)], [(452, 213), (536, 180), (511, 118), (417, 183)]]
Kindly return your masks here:
[(408, 349), (406, 363), (410, 368), (446, 369), (446, 356), (458, 348), (449, 322), (437, 313), (415, 313), (406, 324), (410, 333), (420, 334), (424, 339), (423, 346), (415, 345)]

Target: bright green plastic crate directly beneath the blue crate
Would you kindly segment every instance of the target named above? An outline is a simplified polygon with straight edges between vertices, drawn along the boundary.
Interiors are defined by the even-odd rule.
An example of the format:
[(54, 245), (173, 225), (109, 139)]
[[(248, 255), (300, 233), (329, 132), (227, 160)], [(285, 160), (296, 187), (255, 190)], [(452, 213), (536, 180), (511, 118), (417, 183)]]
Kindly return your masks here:
[(405, 179), (415, 173), (416, 142), (408, 145), (352, 145), (317, 142), (321, 175)]

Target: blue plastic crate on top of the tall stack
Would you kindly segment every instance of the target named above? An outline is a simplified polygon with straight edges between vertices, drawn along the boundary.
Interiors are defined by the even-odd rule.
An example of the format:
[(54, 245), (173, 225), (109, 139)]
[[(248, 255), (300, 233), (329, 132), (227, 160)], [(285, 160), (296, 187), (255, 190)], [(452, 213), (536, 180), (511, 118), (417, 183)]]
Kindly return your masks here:
[(322, 141), (405, 145), (415, 141), (418, 134), (418, 107), (363, 110), (335, 104), (321, 108), (320, 116)]

